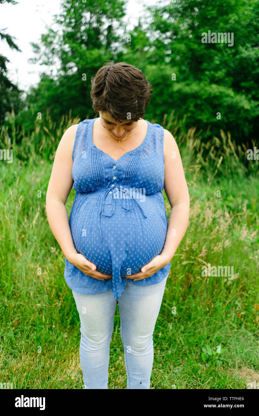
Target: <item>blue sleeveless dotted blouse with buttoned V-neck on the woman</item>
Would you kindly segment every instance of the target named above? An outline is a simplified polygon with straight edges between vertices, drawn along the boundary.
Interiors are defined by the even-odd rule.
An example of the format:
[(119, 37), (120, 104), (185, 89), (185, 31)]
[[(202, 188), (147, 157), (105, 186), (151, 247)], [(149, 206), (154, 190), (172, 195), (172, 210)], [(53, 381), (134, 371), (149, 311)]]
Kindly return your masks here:
[(134, 275), (159, 255), (167, 233), (164, 206), (164, 129), (149, 121), (143, 143), (115, 161), (92, 140), (95, 119), (78, 124), (73, 146), (73, 188), (76, 191), (69, 216), (78, 253), (112, 275), (97, 280), (85, 275), (65, 258), (67, 285), (81, 294), (107, 292), (119, 299), (126, 282), (154, 285), (169, 274), (171, 262), (145, 280)]

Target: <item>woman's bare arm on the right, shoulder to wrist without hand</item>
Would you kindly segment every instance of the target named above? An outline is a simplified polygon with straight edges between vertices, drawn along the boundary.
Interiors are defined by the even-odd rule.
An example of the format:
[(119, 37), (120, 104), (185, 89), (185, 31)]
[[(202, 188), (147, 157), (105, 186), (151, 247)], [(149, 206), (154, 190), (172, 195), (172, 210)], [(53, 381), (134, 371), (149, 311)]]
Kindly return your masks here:
[(172, 209), (161, 254), (170, 261), (188, 227), (190, 197), (178, 146), (166, 129), (164, 129), (164, 154), (164, 189)]

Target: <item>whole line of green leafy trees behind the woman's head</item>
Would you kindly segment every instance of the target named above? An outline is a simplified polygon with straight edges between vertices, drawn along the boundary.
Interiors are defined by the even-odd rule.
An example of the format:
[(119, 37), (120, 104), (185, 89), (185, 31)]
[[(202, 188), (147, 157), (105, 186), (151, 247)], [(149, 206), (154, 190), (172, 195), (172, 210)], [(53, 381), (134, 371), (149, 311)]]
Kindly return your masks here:
[[(31, 112), (48, 109), (58, 122), (72, 117), (95, 117), (90, 100), (91, 77), (113, 59), (141, 69), (154, 92), (146, 118), (161, 124), (175, 111), (185, 118), (186, 129), (201, 131), (204, 142), (219, 130), (230, 133), (237, 145), (256, 142), (259, 131), (259, 3), (257, 0), (179, 0), (147, 7), (136, 27), (122, 21), (125, 2), (67, 0), (35, 57), (57, 68), (42, 74), (27, 94), (25, 109), (17, 118), (25, 132), (33, 131)], [(233, 33), (233, 45), (202, 43), (202, 33)], [(227, 41), (228, 42), (228, 41)], [(176, 79), (172, 77), (175, 74)], [(6, 121), (8, 126), (8, 121)]]

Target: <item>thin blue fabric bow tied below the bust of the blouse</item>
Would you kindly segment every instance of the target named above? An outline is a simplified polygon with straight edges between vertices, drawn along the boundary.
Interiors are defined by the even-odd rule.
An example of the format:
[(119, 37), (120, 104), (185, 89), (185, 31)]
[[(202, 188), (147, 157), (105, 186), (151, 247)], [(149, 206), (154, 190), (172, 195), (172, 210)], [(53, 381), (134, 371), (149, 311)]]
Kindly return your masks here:
[[(114, 192), (122, 192), (123, 195), (125, 195), (125, 197), (123, 198), (117, 198), (114, 196)], [(102, 198), (102, 202), (101, 202), (101, 207), (100, 207), (100, 214), (99, 214), (99, 218), (98, 218), (98, 228), (100, 231), (100, 235), (101, 235), (101, 241), (103, 242), (103, 234), (100, 228), (100, 224), (101, 224), (101, 214), (105, 215), (105, 217), (111, 217), (115, 211), (115, 199), (119, 200), (120, 205), (122, 206), (122, 208), (124, 208), (125, 210), (131, 210), (134, 208), (135, 203), (138, 204), (142, 214), (144, 215), (144, 218), (147, 218), (147, 215), (144, 213), (142, 207), (139, 205), (138, 201), (136, 200), (136, 198), (134, 198), (133, 196), (131, 196), (129, 194), (129, 188), (124, 188), (121, 187), (120, 189), (117, 187), (109, 188), (107, 189), (107, 191), (105, 191), (105, 193), (103, 194)], [(104, 208), (106, 210), (106, 213), (104, 212)]]

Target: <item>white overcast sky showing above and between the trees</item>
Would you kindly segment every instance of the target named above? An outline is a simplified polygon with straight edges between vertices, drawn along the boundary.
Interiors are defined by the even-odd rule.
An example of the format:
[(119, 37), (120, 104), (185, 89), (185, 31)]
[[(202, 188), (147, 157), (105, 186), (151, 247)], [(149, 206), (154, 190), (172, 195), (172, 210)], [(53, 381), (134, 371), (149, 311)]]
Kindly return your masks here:
[[(46, 27), (55, 29), (53, 17), (59, 14), (61, 0), (20, 0), (17, 5), (4, 3), (0, 5), (0, 29), (7, 28), (7, 34), (15, 37), (14, 42), (22, 52), (10, 49), (5, 40), (0, 40), (0, 54), (6, 56), (8, 78), (18, 83), (20, 89), (28, 90), (30, 85), (37, 85), (39, 72), (43, 67), (30, 64), (29, 58), (34, 57), (30, 42), (38, 43), (40, 36), (46, 33)], [(137, 24), (138, 17), (143, 13), (143, 5), (153, 5), (156, 0), (128, 0), (127, 1), (127, 29)]]

